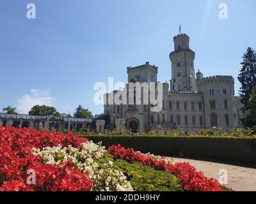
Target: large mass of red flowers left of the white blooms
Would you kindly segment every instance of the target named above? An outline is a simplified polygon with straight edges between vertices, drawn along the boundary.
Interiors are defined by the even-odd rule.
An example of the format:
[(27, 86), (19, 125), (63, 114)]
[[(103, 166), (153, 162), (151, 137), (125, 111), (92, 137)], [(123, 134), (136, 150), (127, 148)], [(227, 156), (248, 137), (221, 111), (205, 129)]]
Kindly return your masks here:
[[(79, 147), (86, 141), (72, 133), (0, 126), (0, 191), (90, 191), (88, 174), (72, 168), (70, 162), (43, 164), (40, 156), (31, 153), (33, 147)], [(35, 184), (27, 184), (27, 171), (31, 169), (35, 171)]]

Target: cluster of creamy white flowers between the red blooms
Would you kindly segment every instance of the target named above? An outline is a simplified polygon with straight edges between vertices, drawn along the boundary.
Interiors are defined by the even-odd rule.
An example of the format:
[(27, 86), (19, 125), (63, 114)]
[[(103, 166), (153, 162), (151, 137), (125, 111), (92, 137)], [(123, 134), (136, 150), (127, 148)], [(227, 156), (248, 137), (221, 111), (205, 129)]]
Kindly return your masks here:
[(33, 154), (40, 155), (45, 164), (59, 164), (71, 160), (81, 172), (89, 173), (89, 178), (93, 180), (93, 191), (132, 191), (132, 186), (124, 174), (113, 169), (112, 161), (99, 168), (97, 160), (104, 153), (105, 147), (92, 141), (82, 143), (79, 149), (72, 146), (62, 148), (60, 145), (42, 150), (33, 149)]

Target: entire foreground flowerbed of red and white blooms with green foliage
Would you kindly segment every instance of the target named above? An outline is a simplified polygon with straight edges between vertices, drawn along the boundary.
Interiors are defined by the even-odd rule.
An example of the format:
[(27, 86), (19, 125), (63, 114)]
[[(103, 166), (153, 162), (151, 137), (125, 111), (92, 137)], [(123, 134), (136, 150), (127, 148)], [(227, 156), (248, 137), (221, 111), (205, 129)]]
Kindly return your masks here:
[(0, 126), (0, 191), (132, 190), (221, 188), (187, 163), (174, 163), (120, 145), (107, 151), (101, 143), (72, 133)]

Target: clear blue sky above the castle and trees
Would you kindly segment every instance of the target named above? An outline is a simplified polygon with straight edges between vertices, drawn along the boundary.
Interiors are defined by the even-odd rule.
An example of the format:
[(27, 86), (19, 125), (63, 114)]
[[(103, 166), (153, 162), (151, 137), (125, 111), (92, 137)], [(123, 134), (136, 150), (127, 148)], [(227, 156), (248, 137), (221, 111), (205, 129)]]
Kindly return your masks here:
[[(36, 19), (26, 17), (35, 3)], [(220, 19), (219, 4), (228, 5)], [(93, 114), (95, 82), (127, 82), (126, 67), (149, 61), (158, 81), (170, 80), (173, 36), (190, 36), (195, 69), (204, 76), (232, 75), (256, 49), (255, 0), (1, 0), (0, 110), (25, 113), (35, 103), (73, 113), (81, 103)]]

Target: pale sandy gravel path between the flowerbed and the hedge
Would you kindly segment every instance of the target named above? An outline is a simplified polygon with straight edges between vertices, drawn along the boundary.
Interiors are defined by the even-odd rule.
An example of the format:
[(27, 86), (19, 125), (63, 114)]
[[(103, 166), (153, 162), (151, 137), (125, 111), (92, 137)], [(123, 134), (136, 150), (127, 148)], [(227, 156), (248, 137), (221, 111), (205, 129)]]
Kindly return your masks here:
[(195, 166), (196, 170), (204, 172), (204, 175), (209, 179), (213, 178), (218, 180), (221, 177), (219, 171), (227, 170), (228, 184), (225, 186), (235, 191), (256, 191), (256, 168), (246, 168), (193, 159), (172, 158), (174, 161), (188, 162)]

